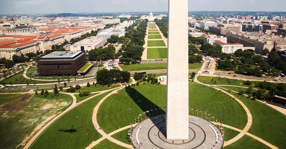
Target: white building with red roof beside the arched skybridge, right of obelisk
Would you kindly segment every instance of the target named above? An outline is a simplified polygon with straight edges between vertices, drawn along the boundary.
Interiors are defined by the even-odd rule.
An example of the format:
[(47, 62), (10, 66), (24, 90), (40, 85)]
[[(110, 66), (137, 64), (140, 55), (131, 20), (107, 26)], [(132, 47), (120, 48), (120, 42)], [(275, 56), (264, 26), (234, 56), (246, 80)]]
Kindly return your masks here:
[(215, 40), (213, 42), (213, 45), (220, 45), (223, 53), (234, 53), (238, 49), (243, 49), (243, 44), (239, 43), (227, 44), (219, 40)]

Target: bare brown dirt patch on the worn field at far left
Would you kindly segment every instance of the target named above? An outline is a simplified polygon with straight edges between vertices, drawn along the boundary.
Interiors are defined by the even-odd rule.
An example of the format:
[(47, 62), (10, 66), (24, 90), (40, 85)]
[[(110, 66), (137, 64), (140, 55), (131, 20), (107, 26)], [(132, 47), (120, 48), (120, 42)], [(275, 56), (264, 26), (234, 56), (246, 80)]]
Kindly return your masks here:
[(27, 107), (31, 106), (31, 97), (34, 93), (27, 93), (23, 94), (22, 96), (9, 101), (3, 105), (0, 105), (0, 112), (3, 112), (3, 117), (9, 117), (10, 115), (15, 115), (26, 109)]

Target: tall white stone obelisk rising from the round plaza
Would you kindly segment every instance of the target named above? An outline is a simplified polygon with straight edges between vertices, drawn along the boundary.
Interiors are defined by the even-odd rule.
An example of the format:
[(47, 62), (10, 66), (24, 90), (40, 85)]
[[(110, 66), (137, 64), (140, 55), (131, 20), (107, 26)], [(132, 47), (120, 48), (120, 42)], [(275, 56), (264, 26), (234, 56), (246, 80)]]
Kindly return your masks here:
[(167, 139), (188, 139), (188, 0), (169, 0), (168, 17)]

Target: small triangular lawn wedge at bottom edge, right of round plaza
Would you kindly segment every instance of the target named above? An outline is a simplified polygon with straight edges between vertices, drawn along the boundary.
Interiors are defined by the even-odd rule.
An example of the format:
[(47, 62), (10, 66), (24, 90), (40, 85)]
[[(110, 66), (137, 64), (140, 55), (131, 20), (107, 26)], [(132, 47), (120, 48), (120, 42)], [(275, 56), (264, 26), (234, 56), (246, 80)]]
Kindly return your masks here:
[(223, 147), (223, 149), (257, 149), (257, 148), (263, 148), (263, 149), (270, 149), (267, 145), (259, 142), (258, 140), (244, 135), (241, 139), (239, 139), (237, 142), (234, 142), (228, 146)]

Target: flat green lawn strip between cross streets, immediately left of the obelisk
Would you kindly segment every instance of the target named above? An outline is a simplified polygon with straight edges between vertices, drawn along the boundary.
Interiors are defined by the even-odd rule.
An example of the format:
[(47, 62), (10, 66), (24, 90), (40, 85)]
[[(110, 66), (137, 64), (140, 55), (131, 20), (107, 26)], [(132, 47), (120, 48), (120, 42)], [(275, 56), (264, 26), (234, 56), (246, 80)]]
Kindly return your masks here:
[(150, 63), (150, 64), (130, 64), (120, 65), (123, 70), (128, 71), (140, 71), (140, 70), (158, 70), (167, 69), (167, 63)]

